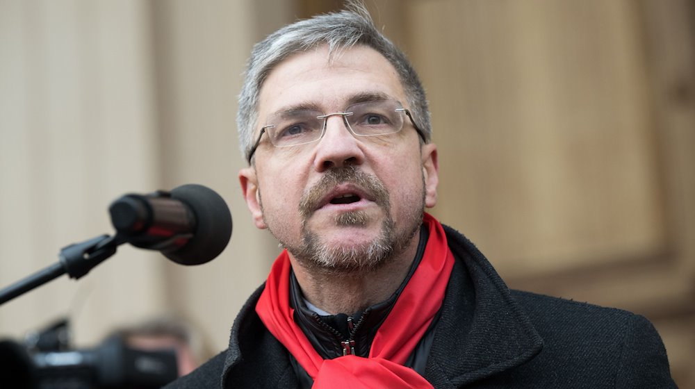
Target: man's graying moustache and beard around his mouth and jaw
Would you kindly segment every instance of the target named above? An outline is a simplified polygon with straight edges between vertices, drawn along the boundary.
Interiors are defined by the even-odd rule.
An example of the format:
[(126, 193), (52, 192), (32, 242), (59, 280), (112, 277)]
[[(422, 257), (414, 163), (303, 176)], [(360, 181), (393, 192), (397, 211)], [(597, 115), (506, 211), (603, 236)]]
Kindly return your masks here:
[[(354, 183), (375, 199), (377, 205), (384, 210), (386, 219), (382, 222), (382, 228), (373, 240), (362, 245), (325, 245), (320, 233), (311, 231), (307, 226), (309, 217), (316, 209), (316, 204), (324, 194), (340, 183)], [(425, 177), (423, 176), (423, 193), (420, 208), (414, 210), (414, 214), (407, 222), (410, 224), (402, 233), (395, 229), (395, 222), (391, 217), (391, 204), (389, 192), (381, 181), (352, 166), (338, 167), (329, 170), (322, 179), (309, 189), (300, 201), (300, 215), (302, 216), (302, 239), (297, 244), (283, 242), (285, 247), (299, 263), (311, 270), (328, 274), (346, 274), (375, 270), (390, 263), (393, 258), (402, 253), (410, 240), (414, 237), (420, 225), (425, 210)], [(260, 196), (259, 196), (260, 198)], [(263, 203), (261, 201), (261, 210)], [(338, 226), (363, 226), (368, 222), (368, 215), (363, 212), (340, 213), (336, 216)], [(266, 225), (268, 225), (266, 223)], [(270, 225), (268, 225), (270, 229)], [(275, 235), (270, 229), (270, 233)], [(275, 235), (277, 238), (277, 235)], [(279, 239), (278, 239), (279, 240)]]

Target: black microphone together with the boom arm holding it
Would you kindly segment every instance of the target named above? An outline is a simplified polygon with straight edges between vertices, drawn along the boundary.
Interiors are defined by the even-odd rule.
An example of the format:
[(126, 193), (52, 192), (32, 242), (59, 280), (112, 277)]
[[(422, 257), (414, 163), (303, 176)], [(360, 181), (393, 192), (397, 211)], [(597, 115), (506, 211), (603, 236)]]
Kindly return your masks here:
[(154, 249), (181, 265), (200, 265), (218, 256), (231, 237), (231, 213), (224, 199), (203, 185), (171, 192), (125, 195), (109, 206), (113, 236), (99, 235), (60, 249), (58, 263), (0, 289), (0, 305), (67, 273), (79, 279), (131, 243)]

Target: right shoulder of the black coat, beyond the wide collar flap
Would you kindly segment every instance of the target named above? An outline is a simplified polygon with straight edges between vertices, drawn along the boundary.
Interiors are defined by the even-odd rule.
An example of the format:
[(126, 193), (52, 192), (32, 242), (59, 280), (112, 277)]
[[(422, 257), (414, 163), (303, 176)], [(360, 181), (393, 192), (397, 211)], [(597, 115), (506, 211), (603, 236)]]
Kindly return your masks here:
[(644, 316), (518, 290), (512, 296), (543, 338), (529, 371), (553, 371), (573, 382), (592, 372), (611, 388), (676, 388), (662, 339)]

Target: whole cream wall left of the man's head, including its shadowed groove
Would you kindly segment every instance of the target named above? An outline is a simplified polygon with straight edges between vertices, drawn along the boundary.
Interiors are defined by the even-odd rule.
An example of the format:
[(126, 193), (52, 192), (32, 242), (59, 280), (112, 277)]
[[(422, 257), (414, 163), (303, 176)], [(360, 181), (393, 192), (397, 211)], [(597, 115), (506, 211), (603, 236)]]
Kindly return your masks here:
[(0, 2), (0, 285), (113, 233), (126, 192), (201, 183), (234, 217), (226, 251), (184, 268), (129, 246), (79, 281), (63, 276), (0, 307), (0, 338), (67, 316), (76, 345), (173, 313), (218, 351), (277, 243), (249, 222), (236, 174), (236, 94), (252, 42), (287, 2)]

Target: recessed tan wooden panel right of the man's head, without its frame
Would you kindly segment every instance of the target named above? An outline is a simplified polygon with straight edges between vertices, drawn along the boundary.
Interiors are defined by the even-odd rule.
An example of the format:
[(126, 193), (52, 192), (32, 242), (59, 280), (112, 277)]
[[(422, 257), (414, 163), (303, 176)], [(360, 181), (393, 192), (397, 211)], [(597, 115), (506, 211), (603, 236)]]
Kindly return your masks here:
[(667, 249), (632, 4), (412, 3), (441, 151), (434, 213), (505, 274)]

